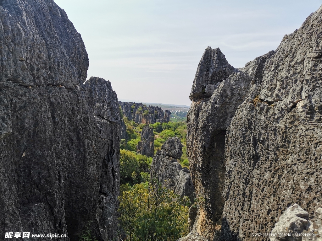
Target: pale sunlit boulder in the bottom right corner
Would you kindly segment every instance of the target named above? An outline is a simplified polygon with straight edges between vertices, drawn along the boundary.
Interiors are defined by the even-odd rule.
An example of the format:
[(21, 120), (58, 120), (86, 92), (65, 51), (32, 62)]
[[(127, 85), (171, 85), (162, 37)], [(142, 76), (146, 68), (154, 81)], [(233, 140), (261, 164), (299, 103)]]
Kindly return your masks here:
[(322, 240), (322, 209), (316, 210), (317, 221), (309, 220), (308, 212), (298, 204), (290, 206), (279, 217), (270, 233), (270, 241)]

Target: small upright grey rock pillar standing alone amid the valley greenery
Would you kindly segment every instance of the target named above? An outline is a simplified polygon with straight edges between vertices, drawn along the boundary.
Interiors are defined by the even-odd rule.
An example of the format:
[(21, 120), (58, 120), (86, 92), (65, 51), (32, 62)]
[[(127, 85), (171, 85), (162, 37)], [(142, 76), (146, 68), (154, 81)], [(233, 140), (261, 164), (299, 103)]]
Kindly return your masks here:
[(137, 145), (137, 154), (154, 156), (154, 133), (153, 128), (145, 126), (142, 128), (141, 141)]

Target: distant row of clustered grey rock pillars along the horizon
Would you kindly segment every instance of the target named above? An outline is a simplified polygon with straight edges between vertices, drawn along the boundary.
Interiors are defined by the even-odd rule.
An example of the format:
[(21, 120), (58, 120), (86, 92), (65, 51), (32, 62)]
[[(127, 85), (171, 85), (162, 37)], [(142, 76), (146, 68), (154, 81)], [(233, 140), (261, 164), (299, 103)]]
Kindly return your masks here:
[(146, 106), (142, 103), (134, 102), (119, 102), (122, 112), (128, 120), (134, 120), (137, 123), (143, 124), (154, 124), (156, 122), (170, 121), (171, 112), (166, 110), (165, 113), (160, 107), (157, 106)]

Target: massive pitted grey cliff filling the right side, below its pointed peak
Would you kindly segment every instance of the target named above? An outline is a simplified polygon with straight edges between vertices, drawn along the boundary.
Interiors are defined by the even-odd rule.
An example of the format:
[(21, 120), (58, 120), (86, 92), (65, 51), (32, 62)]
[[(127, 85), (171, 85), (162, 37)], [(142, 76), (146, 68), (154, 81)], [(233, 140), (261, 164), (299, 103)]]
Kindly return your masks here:
[(321, 12), (275, 51), (233, 70), (211, 97), (192, 96), (187, 150), (204, 199), (194, 229), (209, 240), (214, 223), (222, 225), (221, 240), (258, 240), (250, 234), (270, 233), (292, 203), (310, 218), (321, 206)]

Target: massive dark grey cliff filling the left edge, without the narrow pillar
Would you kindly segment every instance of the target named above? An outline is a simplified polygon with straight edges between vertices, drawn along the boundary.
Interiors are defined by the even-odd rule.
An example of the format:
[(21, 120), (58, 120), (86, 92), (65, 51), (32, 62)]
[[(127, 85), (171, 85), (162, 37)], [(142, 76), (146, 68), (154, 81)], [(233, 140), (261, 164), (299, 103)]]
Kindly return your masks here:
[(0, 1), (0, 36), (1, 235), (78, 240), (92, 221), (102, 240), (99, 189), (112, 147), (101, 152), (81, 36), (52, 0)]

